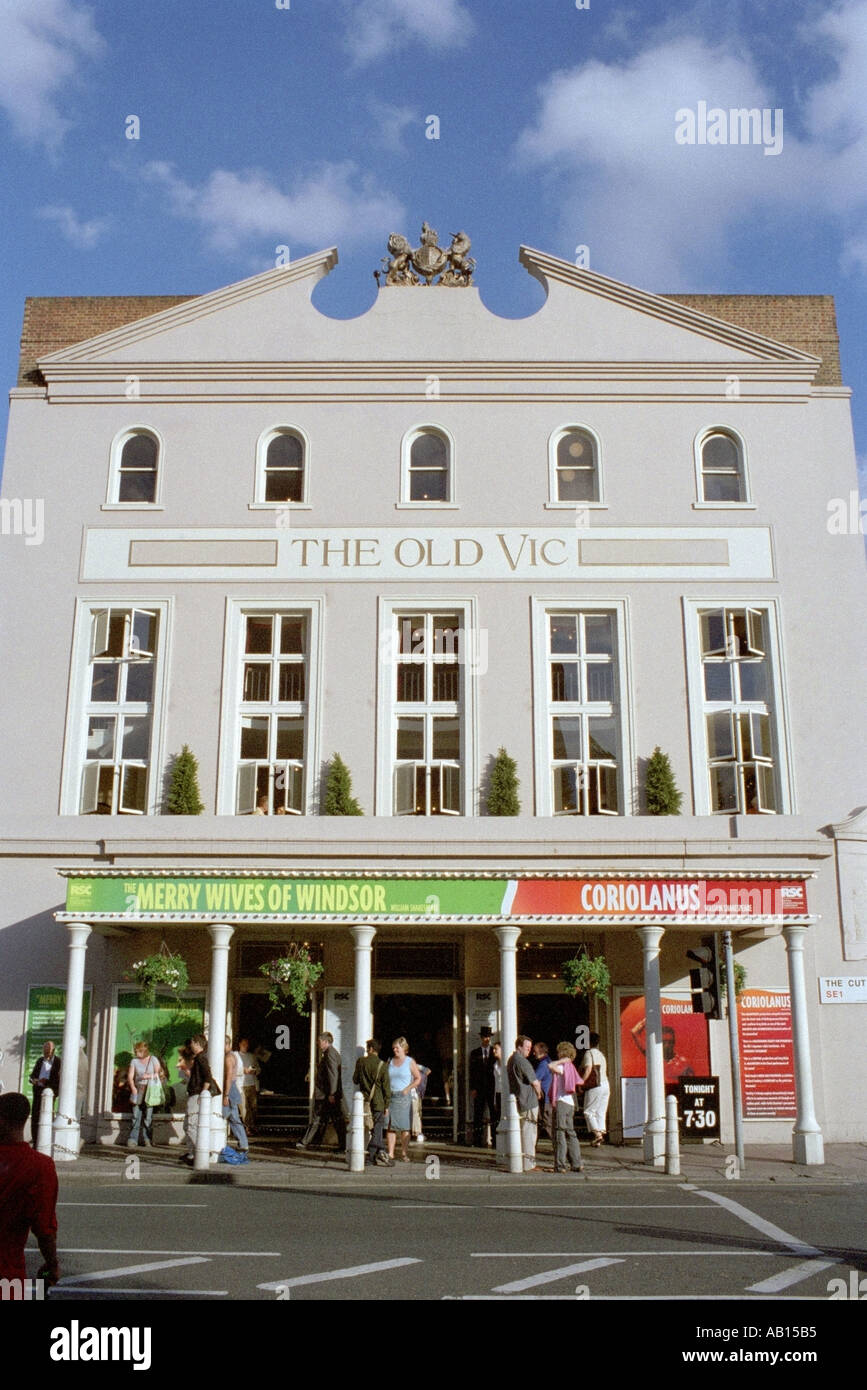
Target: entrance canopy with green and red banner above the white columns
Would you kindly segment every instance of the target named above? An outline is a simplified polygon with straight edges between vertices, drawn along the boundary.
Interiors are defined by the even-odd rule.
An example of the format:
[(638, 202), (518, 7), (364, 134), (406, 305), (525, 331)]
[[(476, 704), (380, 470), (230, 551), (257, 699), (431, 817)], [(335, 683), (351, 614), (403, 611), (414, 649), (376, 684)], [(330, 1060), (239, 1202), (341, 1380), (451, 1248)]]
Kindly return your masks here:
[(756, 929), (809, 926), (809, 873), (335, 873), (60, 869), (58, 922)]

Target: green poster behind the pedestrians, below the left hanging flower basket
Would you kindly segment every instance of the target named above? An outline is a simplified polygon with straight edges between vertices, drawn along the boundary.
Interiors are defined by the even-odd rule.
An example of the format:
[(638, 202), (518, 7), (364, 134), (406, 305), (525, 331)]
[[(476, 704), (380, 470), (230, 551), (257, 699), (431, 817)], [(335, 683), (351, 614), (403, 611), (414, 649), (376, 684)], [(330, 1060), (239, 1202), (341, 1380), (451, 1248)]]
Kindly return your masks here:
[[(142, 995), (138, 990), (119, 990), (114, 1034), (111, 1109), (115, 1113), (129, 1109), (126, 1072), (135, 1042), (147, 1042), (153, 1055), (163, 1062), (168, 1084), (176, 1086), (181, 1080), (178, 1048), (195, 1033), (204, 1033), (204, 990), (188, 990), (179, 1001), (171, 994), (157, 994), (150, 1009), (142, 1004)], [(208, 1061), (214, 1069), (214, 1058), (208, 1055)], [(221, 1068), (217, 1066), (217, 1074), (220, 1070)]]

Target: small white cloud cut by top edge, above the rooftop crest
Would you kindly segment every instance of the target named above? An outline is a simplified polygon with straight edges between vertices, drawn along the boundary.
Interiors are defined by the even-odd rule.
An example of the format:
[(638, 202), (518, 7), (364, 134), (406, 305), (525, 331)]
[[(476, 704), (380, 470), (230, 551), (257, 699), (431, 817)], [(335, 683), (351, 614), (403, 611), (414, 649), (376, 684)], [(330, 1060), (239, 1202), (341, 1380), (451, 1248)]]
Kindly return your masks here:
[(357, 65), (424, 43), (460, 47), (475, 29), (461, 0), (343, 0), (345, 43)]

